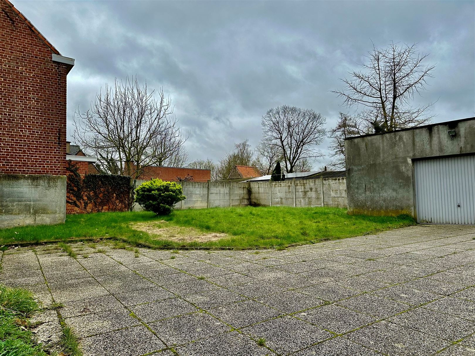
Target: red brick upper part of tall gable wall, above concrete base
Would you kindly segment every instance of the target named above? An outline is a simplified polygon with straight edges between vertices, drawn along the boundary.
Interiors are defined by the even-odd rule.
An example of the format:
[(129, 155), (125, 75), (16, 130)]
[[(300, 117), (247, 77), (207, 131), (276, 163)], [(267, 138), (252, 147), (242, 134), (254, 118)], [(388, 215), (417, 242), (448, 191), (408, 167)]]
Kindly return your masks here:
[(0, 174), (66, 174), (66, 64), (0, 0)]

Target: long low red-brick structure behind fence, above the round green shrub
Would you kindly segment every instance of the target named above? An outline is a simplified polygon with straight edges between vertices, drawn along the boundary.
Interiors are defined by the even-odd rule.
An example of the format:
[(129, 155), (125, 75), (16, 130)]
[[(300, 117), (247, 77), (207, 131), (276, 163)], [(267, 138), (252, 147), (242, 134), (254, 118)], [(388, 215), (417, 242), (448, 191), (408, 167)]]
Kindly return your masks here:
[(143, 168), (143, 173), (138, 179), (150, 180), (152, 178), (160, 178), (168, 182), (178, 182), (180, 179), (185, 179), (186, 177), (191, 177), (187, 180), (193, 182), (207, 182), (211, 179), (211, 170), (149, 166)]

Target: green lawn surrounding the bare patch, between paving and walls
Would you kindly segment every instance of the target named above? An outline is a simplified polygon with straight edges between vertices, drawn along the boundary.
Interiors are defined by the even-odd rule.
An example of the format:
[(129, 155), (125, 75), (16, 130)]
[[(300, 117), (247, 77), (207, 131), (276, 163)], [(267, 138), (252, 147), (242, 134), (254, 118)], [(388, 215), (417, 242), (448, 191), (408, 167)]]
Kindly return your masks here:
[[(225, 233), (217, 241), (171, 241), (167, 234), (151, 234), (131, 225), (149, 223), (170, 229), (173, 234)], [(152, 223), (152, 224), (150, 224)], [(0, 244), (47, 242), (74, 238), (125, 238), (131, 243), (156, 247), (180, 246), (282, 246), (308, 241), (322, 241), (357, 236), (393, 228), (415, 225), (406, 215), (347, 215), (346, 209), (313, 207), (236, 207), (176, 210), (169, 216), (148, 212), (96, 213), (67, 215), (64, 225), (22, 226), (0, 229)], [(173, 230), (173, 229), (171, 229)], [(168, 233), (170, 235), (170, 233)]]

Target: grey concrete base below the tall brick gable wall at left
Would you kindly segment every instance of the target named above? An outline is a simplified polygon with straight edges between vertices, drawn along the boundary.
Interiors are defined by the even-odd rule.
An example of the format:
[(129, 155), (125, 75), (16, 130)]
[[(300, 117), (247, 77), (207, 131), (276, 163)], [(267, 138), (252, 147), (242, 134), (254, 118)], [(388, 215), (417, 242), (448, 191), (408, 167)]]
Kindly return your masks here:
[(0, 174), (0, 228), (64, 223), (66, 176)]

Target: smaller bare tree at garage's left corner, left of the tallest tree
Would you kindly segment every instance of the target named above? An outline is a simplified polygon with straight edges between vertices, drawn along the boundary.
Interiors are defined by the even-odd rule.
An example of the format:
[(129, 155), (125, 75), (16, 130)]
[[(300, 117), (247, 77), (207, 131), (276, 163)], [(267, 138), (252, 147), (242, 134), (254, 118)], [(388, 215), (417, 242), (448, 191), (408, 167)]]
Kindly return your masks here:
[(375, 132), (374, 122), (377, 118), (369, 110), (354, 115), (340, 112), (336, 126), (330, 130), (332, 139), (328, 149), (331, 151), (331, 160), (328, 164), (333, 169), (345, 169), (345, 139)]

